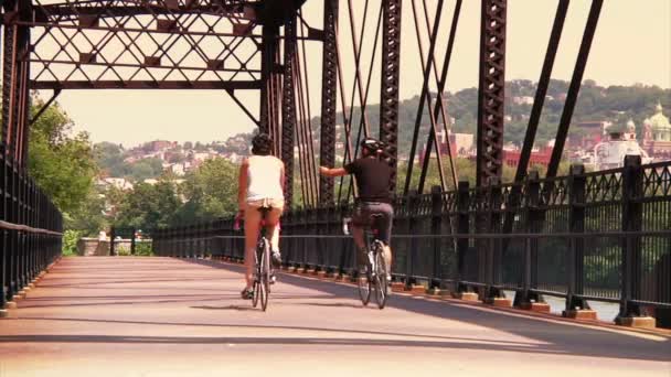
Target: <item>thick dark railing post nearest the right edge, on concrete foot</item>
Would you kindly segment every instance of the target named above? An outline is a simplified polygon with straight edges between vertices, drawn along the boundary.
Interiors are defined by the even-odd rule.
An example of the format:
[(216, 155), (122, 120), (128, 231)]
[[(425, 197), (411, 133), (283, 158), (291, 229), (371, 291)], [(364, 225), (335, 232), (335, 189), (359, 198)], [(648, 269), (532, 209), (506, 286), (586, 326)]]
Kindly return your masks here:
[[(643, 223), (643, 169), (640, 155), (625, 157), (622, 171), (622, 231), (641, 231)], [(645, 308), (632, 303), (640, 300), (641, 254), (642, 245), (639, 235), (628, 234), (622, 239), (620, 312), (617, 324), (636, 326), (654, 326), (654, 319), (648, 316)]]

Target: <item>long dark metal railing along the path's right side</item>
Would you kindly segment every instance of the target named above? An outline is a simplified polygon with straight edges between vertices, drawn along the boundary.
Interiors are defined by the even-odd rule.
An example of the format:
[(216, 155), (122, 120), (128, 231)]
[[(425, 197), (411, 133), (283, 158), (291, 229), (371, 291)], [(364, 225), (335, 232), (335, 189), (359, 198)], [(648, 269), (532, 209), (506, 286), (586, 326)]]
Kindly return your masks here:
[[(671, 162), (484, 188), (411, 194), (394, 203), (394, 280), (484, 299), (514, 291), (524, 306), (543, 295), (616, 302), (620, 316), (671, 309)], [(350, 207), (289, 211), (281, 220), (284, 262), (355, 276), (342, 218)], [(173, 257), (243, 258), (232, 219), (155, 233), (155, 251)]]

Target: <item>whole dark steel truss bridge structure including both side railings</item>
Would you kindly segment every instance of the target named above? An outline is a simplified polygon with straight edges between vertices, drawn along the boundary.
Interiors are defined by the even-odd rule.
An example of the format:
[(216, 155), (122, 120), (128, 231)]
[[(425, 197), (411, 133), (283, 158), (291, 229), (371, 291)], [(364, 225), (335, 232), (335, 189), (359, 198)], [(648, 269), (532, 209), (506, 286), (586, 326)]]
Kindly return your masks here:
[[(286, 267), (354, 273), (351, 241), (339, 235), (354, 195), (351, 183), (318, 177), (317, 165), (351, 161), (358, 140), (371, 134), (385, 142), (384, 157), (394, 171), (405, 169), (405, 180), (390, 187), (398, 193), (397, 283), (478, 294), (490, 302), (505, 302), (505, 292), (514, 291), (512, 304), (520, 308), (536, 308), (554, 295), (565, 299), (566, 315), (588, 311), (592, 300), (617, 302), (618, 323), (656, 316), (669, 325), (671, 163), (641, 165), (628, 157), (621, 169), (585, 173), (575, 165), (571, 175), (556, 176), (607, 4), (592, 0), (552, 159), (541, 177), (529, 161), (568, 15), (569, 1), (557, 1), (521, 160), (514, 182), (503, 184), (507, 2), (3, 1), (0, 304), (60, 255), (61, 214), (30, 180), (25, 161), (31, 123), (62, 90), (217, 89), (274, 137), (275, 153), (285, 162), (285, 192), (294, 206), (283, 223)], [(471, 187), (459, 179), (455, 153), (438, 152), (437, 134), (448, 131), (445, 90), (461, 9), (473, 6), (480, 7), (481, 21), (477, 182)], [(306, 7), (320, 9), (319, 17), (313, 20)], [(420, 72), (404, 71), (402, 37), (417, 44)], [(310, 76), (309, 56), (318, 56), (318, 77)], [(310, 93), (315, 82), (321, 84), (319, 94)], [(422, 89), (411, 150), (401, 151), (409, 161), (400, 164), (404, 82), (420, 82)], [(36, 114), (30, 111), (31, 89), (53, 93)], [(258, 93), (257, 107), (239, 98), (243, 90)], [(317, 96), (319, 109), (312, 104)], [(320, 120), (313, 127), (315, 115)], [(317, 132), (319, 146), (313, 143)], [(435, 187), (426, 183), (430, 161), (440, 177)], [(297, 180), (300, 200), (294, 193)], [(155, 250), (239, 259), (239, 236), (231, 229), (231, 219), (155, 229)]]

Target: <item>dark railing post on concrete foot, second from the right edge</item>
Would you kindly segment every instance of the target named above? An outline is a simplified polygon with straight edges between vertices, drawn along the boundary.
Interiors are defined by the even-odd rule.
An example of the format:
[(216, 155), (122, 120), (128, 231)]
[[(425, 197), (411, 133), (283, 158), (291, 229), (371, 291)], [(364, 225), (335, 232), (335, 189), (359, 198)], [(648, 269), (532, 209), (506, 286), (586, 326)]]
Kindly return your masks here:
[(562, 315), (596, 320), (596, 312), (589, 309), (587, 300), (582, 295), (585, 278), (585, 239), (579, 234), (585, 233), (586, 183), (585, 166), (582, 164), (571, 165), (571, 175), (568, 176), (568, 203), (571, 206), (568, 226), (571, 234), (578, 234), (578, 236), (572, 236), (569, 240), (566, 309)]

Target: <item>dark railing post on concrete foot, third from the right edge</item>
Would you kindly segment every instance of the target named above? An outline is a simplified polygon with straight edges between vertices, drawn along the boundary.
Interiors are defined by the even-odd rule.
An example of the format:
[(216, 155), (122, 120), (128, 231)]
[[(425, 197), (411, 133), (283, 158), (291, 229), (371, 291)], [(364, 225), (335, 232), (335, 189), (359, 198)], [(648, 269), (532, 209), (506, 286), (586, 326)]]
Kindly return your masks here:
[[(539, 211), (541, 203), (541, 183), (539, 172), (533, 170), (526, 176), (526, 231), (530, 234), (541, 233), (545, 213)], [(521, 201), (518, 201), (521, 203)], [(539, 240), (528, 238), (524, 249), (524, 280), (522, 292), (515, 294), (513, 305), (515, 308), (532, 310), (536, 312), (550, 312), (550, 305), (545, 303), (543, 295), (532, 292), (539, 283)]]

